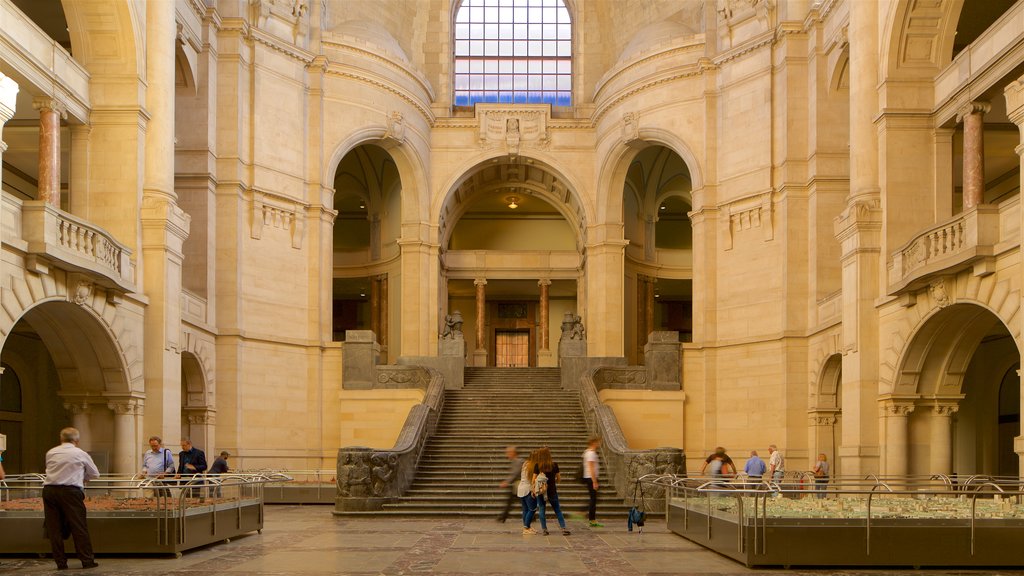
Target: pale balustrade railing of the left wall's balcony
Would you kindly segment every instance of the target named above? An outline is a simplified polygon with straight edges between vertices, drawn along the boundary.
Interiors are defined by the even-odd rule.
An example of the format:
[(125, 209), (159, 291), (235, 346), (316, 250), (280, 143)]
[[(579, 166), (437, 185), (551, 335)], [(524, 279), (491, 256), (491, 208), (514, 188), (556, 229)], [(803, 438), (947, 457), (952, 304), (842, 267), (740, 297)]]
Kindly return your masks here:
[(90, 274), (99, 284), (134, 290), (131, 250), (103, 229), (58, 210), (45, 202), (22, 205), (22, 236), (30, 256), (57, 268)]

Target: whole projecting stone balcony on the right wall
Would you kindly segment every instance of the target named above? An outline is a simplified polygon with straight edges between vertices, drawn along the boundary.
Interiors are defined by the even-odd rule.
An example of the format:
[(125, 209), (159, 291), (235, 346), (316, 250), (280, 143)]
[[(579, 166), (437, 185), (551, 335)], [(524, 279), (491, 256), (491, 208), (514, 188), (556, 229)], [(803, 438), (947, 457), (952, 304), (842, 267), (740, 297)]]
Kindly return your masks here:
[(914, 290), (939, 275), (974, 268), (994, 272), (994, 258), (1020, 245), (1020, 201), (983, 204), (918, 234), (889, 259), (889, 293)]

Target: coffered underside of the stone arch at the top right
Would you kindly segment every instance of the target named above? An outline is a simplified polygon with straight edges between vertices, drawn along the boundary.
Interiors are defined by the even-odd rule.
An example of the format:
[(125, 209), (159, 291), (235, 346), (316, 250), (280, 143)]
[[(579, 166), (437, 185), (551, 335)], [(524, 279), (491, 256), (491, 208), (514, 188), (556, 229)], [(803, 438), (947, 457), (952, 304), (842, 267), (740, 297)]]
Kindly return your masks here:
[(899, 0), (886, 15), (881, 78), (933, 78), (949, 64), (965, 0)]

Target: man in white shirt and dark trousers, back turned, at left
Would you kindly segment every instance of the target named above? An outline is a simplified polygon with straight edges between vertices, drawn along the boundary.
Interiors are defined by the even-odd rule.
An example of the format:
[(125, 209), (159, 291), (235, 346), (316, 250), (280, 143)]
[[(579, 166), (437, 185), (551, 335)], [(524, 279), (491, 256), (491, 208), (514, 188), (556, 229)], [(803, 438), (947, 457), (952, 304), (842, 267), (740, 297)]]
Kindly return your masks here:
[(68, 570), (63, 541), (70, 532), (82, 568), (95, 568), (92, 540), (85, 510), (85, 483), (99, 478), (92, 457), (78, 447), (75, 428), (60, 430), (60, 446), (46, 453), (46, 480), (43, 481), (43, 524), (53, 549), (57, 570)]

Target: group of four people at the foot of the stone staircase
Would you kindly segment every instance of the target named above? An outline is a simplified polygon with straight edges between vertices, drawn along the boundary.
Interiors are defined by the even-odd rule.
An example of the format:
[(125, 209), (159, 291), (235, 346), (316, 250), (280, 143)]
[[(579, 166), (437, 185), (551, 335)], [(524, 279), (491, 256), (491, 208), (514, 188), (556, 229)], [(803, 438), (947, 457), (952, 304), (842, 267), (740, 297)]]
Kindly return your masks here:
[[(597, 522), (597, 489), (600, 472), (597, 449), (600, 446), (600, 438), (592, 438), (587, 443), (587, 450), (583, 453), (580, 479), (587, 485), (589, 495), (587, 518), (590, 526), (595, 528), (603, 526)], [(523, 460), (519, 457), (517, 449), (509, 446), (505, 450), (505, 455), (509, 459), (509, 475), (501, 487), (511, 489), (517, 477), (519, 482), (515, 485), (515, 490), (510, 490), (505, 509), (498, 518), (499, 522), (505, 522), (513, 499), (518, 498), (522, 506), (522, 533), (537, 534), (537, 530), (532, 528), (537, 517), (541, 521), (541, 532), (547, 536), (549, 532), (546, 512), (547, 505), (551, 504), (562, 535), (568, 536), (571, 532), (565, 526), (567, 515), (562, 512), (561, 502), (558, 500), (558, 484), (562, 481), (562, 474), (558, 463), (551, 456), (551, 449), (547, 446), (539, 448)]]

